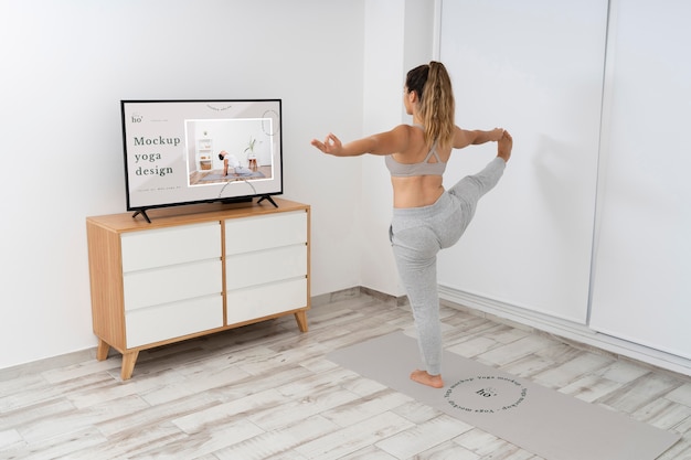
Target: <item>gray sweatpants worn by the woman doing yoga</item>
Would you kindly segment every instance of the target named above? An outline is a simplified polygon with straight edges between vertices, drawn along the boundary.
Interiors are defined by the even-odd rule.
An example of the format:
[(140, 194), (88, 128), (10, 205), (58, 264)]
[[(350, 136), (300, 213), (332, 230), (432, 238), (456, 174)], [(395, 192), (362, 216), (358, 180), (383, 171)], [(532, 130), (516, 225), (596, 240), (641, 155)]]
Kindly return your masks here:
[(447, 190), (436, 203), (393, 211), (393, 253), (413, 310), (425, 371), (430, 375), (442, 373), (437, 253), (458, 242), (478, 201), (497, 184), (506, 165), (501, 158), (495, 158), (482, 171)]

